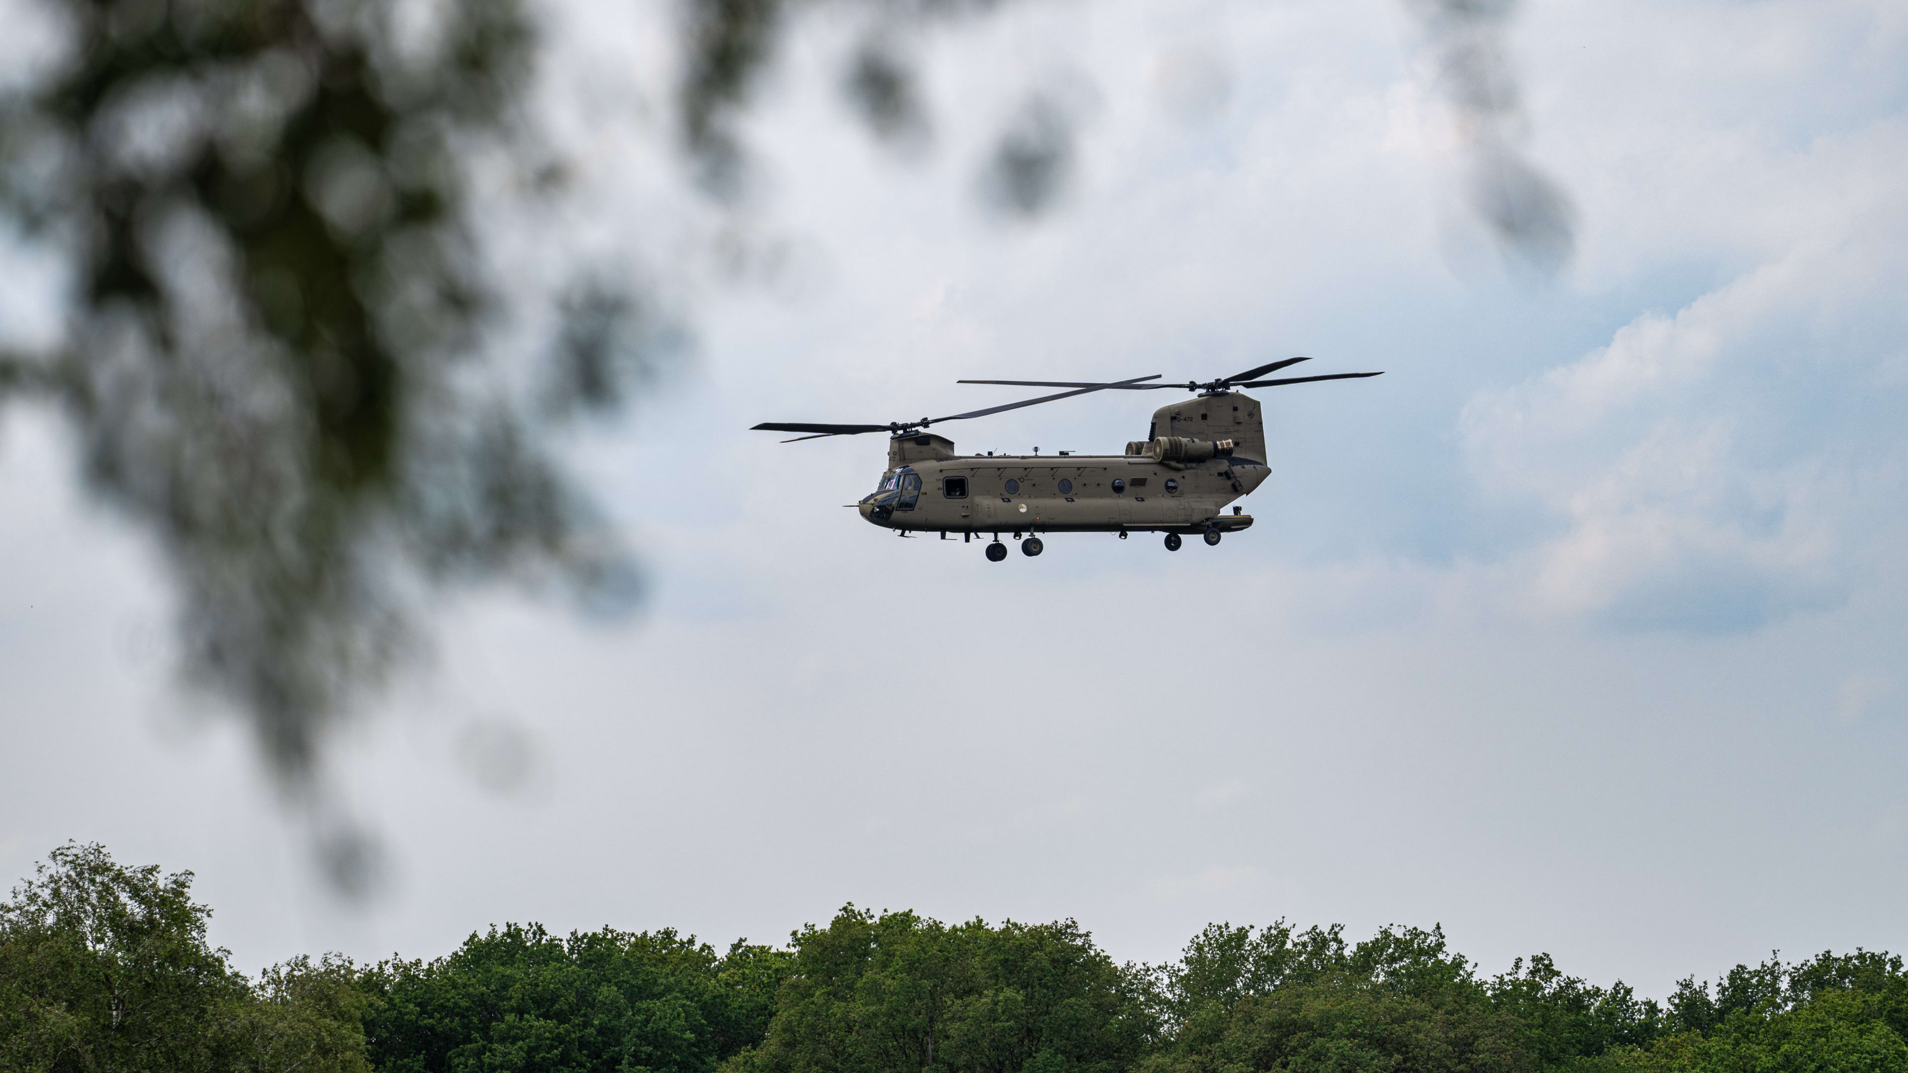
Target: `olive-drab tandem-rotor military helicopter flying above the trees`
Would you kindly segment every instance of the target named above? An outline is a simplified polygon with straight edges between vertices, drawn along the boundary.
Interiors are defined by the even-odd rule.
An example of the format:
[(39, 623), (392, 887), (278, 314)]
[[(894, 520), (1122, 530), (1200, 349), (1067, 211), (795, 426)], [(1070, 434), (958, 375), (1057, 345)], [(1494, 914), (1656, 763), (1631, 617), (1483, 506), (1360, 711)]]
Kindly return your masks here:
[[(960, 380), (958, 384), (1006, 384), (1015, 388), (1070, 388), (1038, 399), (1006, 403), (916, 422), (889, 424), (811, 424), (763, 422), (763, 431), (801, 431), (782, 443), (885, 431), (887, 470), (880, 485), (849, 504), (861, 515), (901, 536), (914, 533), (960, 533), (973, 540), (994, 536), (988, 561), (1007, 558), (1002, 533), (1021, 540), (1021, 554), (1046, 550), (1042, 533), (1166, 533), (1166, 550), (1177, 552), (1183, 536), (1200, 535), (1217, 544), (1221, 535), (1252, 525), (1252, 515), (1233, 506), (1252, 494), (1271, 470), (1265, 466), (1265, 418), (1259, 401), (1242, 388), (1282, 388), (1318, 380), (1358, 380), (1381, 372), (1330, 372), (1324, 376), (1284, 376), (1259, 380), (1290, 365), (1311, 361), (1288, 357), (1219, 380), (1151, 384), (1160, 374), (1133, 376), (1107, 384), (1065, 380)], [(1126, 445), (1124, 454), (956, 454), (954, 441), (927, 431), (941, 422), (983, 418), (1021, 407), (1070, 399), (1091, 391), (1154, 391), (1185, 388), (1194, 393), (1152, 414), (1147, 439)]]

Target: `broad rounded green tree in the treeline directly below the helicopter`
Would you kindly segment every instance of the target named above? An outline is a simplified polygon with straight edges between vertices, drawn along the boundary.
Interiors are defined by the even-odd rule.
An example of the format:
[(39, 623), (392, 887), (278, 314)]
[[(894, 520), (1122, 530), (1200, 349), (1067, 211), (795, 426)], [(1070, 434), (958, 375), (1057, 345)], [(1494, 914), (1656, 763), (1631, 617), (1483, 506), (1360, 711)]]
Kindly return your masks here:
[(1139, 978), (1072, 920), (948, 926), (849, 905), (792, 945), (769, 1037), (733, 1071), (1112, 1073), (1152, 1033)]

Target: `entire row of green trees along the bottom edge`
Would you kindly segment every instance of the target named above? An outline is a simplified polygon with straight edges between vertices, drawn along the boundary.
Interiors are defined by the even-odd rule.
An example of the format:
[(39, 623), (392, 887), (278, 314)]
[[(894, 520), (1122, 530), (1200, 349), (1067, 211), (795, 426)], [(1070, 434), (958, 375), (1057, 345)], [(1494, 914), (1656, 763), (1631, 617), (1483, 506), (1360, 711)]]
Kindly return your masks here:
[(1666, 1002), (1549, 957), (1479, 976), (1441, 930), (1213, 924), (1116, 964), (1074, 922), (847, 907), (786, 947), (605, 928), (252, 979), (191, 874), (55, 850), (0, 905), (0, 1069), (273, 1073), (1908, 1071), (1908, 974), (1824, 953)]

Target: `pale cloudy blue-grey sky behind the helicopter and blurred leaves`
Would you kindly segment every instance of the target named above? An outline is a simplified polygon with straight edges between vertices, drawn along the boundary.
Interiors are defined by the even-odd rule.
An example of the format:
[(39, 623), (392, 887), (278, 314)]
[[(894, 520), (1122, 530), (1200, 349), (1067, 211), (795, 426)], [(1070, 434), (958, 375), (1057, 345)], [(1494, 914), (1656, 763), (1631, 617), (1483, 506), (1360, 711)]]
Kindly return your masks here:
[[(567, 445), (641, 611), (443, 596), (338, 741), (385, 848), (343, 903), (240, 726), (176, 689), (160, 558), (11, 405), (0, 876), (65, 840), (191, 869), (248, 970), (504, 920), (778, 941), (849, 901), (1070, 916), (1154, 962), (1210, 920), (1442, 924), (1486, 972), (1547, 951), (1654, 997), (1908, 949), (1908, 8), (1524, 4), (1492, 122), (1568, 199), (1555, 275), (1473, 212), (1416, 11), (822, 8), (714, 206), (658, 134), (666, 10), (546, 6), (576, 197), (494, 256), (614, 256), (691, 340)], [(870, 27), (920, 65), (922, 137), (843, 103)], [(1034, 97), (1074, 136), (1021, 218), (985, 164)], [(44, 265), (8, 258), (0, 332), (44, 332)], [(841, 510), (878, 437), (746, 431), (1288, 355), (1385, 376), (1257, 391), (1257, 521), (1177, 554), (901, 540)], [(943, 431), (1118, 451), (1164, 397), (1109, 395)]]

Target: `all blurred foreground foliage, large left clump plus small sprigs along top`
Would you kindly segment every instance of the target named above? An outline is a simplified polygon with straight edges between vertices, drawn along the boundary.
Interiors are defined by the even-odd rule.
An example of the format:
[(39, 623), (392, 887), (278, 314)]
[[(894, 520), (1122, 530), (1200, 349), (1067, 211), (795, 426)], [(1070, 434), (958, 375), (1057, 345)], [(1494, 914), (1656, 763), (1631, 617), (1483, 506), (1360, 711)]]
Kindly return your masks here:
[[(1511, 4), (1414, 2), (1475, 120), (1479, 204), (1561, 263), (1568, 206), (1509, 149)], [(328, 729), (414, 655), (418, 609), (448, 582), (557, 584), (597, 613), (637, 600), (553, 441), (618, 412), (683, 334), (628, 273), (572, 263), (567, 286), (523, 294), (492, 265), (477, 187), (565, 189), (532, 134), (517, 0), (19, 4), (59, 46), (0, 88), (0, 221), (69, 288), (57, 346), (0, 353), (0, 399), (71, 416), (90, 487), (162, 550), (189, 680), (250, 716), (328, 874), (364, 892), (376, 853), (321, 777)], [(679, 4), (681, 147), (716, 195), (740, 189), (735, 116), (813, 6)], [(859, 2), (841, 86), (878, 137), (929, 130), (902, 31), (994, 6)], [(1009, 216), (1051, 208), (1076, 120), (1027, 95), (983, 195)], [(542, 323), (548, 338), (511, 334)]]

